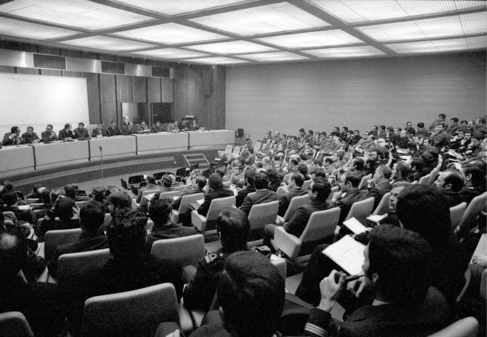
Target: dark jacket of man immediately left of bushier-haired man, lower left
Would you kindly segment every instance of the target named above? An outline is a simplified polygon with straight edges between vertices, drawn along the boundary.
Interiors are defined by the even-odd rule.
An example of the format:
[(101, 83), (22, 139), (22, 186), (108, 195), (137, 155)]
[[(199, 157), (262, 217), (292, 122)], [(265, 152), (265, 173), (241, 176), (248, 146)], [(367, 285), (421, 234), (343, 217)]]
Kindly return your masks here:
[(90, 236), (87, 232), (82, 232), (77, 241), (56, 247), (56, 253), (52, 260), (47, 262), (49, 274), (53, 277), (57, 277), (57, 260), (63, 254), (80, 253), (105, 248), (108, 248), (106, 236), (102, 234)]

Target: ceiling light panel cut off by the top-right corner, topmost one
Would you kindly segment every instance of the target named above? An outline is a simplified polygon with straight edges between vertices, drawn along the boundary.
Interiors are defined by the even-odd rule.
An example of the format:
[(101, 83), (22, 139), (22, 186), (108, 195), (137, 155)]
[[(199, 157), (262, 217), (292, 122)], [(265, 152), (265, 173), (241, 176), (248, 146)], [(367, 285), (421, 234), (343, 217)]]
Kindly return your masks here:
[(476, 0), (311, 0), (348, 23), (406, 18), (486, 6)]

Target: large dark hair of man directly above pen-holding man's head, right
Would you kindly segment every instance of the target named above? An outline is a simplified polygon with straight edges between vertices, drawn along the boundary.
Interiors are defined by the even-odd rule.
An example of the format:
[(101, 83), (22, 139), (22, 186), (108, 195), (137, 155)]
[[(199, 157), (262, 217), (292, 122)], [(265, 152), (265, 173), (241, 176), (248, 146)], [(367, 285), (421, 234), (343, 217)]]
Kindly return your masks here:
[(430, 186), (404, 187), (398, 195), (396, 211), (404, 228), (419, 233), (433, 247), (450, 237), (450, 207), (441, 193)]

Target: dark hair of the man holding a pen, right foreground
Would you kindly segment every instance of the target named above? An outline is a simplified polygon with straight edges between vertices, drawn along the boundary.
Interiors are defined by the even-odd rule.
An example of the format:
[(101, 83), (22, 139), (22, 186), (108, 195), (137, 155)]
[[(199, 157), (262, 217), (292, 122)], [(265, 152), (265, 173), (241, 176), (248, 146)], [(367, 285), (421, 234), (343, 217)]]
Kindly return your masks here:
[[(417, 233), (393, 225), (376, 226), (369, 235), (369, 268), (377, 291), (392, 304), (424, 300), (431, 279), (431, 247)], [(414, 281), (412, 281), (414, 280)]]

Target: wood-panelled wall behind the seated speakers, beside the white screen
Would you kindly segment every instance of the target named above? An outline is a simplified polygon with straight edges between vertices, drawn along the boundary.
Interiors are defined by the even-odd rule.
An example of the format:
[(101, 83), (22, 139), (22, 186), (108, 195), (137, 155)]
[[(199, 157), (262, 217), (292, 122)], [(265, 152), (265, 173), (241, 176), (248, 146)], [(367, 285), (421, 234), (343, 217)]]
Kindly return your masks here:
[[(89, 124), (101, 122), (108, 127), (115, 120), (121, 126), (122, 102), (163, 102), (174, 103), (176, 119), (195, 115), (199, 124), (207, 129), (225, 129), (225, 67), (153, 61), (12, 41), (0, 41), (0, 48), (173, 68), (174, 79), (0, 66), (2, 73), (85, 77), (88, 87)], [(211, 70), (211, 94), (208, 97), (204, 95), (205, 70)], [(150, 122), (149, 115), (146, 114), (144, 118)]]

